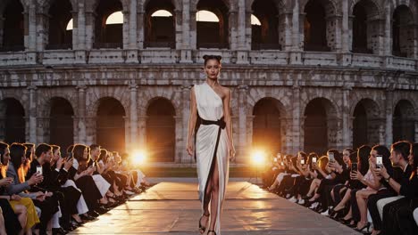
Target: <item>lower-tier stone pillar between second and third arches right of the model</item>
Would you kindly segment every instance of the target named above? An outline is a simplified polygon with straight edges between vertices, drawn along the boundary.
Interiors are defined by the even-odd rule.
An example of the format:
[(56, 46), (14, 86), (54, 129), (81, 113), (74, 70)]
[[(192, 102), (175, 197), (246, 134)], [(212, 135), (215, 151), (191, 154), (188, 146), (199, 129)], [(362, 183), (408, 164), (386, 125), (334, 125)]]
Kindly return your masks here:
[(345, 86), (342, 90), (342, 142), (344, 148), (352, 148), (350, 134), (350, 91), (351, 87)]

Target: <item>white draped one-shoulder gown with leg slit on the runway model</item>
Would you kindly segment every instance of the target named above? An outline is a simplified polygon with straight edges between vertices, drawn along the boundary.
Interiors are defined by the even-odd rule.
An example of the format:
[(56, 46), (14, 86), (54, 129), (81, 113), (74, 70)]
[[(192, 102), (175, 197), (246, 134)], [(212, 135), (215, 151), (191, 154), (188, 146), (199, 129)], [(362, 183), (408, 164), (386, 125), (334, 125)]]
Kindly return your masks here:
[[(218, 93), (213, 91), (211, 86), (209, 86), (206, 82), (201, 85), (195, 85), (195, 94), (197, 113), (200, 118), (209, 121), (217, 121), (223, 117), (222, 98), (218, 95)], [(218, 235), (221, 234), (220, 218), (222, 213), (222, 203), (225, 197), (225, 190), (229, 175), (228, 136), (225, 128), (221, 129), (218, 149), (216, 154), (214, 154), (219, 130), (220, 126), (217, 125), (200, 125), (196, 133), (196, 164), (199, 182), (198, 190), (199, 200), (202, 203), (202, 210), (205, 201), (205, 186), (208, 182), (208, 177), (210, 176), (209, 174), (211, 174), (211, 166), (214, 163), (214, 160), (216, 160), (218, 164), (219, 203), (214, 229)], [(210, 205), (209, 209), (211, 209)], [(212, 213), (213, 212), (211, 212), (211, 214)]]

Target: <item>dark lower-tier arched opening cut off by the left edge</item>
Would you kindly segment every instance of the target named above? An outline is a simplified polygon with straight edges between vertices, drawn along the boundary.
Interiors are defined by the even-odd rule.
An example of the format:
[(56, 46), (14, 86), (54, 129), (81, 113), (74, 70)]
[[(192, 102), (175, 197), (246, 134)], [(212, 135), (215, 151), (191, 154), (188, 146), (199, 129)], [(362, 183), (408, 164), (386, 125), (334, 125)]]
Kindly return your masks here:
[(0, 140), (4, 142), (26, 142), (25, 109), (13, 98), (0, 101)]

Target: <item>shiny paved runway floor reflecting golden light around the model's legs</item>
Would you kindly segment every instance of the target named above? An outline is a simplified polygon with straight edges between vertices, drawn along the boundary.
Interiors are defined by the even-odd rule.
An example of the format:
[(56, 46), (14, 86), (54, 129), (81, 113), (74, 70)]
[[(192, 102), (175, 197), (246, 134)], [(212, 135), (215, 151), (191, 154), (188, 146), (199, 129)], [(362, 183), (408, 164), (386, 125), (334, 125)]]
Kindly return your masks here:
[[(200, 213), (195, 182), (161, 182), (72, 234), (195, 235)], [(222, 234), (359, 233), (249, 182), (230, 182)]]

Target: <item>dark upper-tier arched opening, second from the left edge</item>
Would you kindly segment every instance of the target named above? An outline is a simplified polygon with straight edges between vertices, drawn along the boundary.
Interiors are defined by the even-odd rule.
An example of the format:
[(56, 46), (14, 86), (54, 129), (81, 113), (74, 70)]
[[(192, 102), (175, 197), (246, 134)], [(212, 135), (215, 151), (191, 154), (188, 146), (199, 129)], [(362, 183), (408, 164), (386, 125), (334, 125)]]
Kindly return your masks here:
[(71, 49), (72, 29), (67, 30), (72, 19), (72, 6), (69, 0), (55, 0), (49, 8), (49, 41), (47, 50)]

